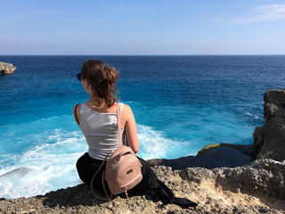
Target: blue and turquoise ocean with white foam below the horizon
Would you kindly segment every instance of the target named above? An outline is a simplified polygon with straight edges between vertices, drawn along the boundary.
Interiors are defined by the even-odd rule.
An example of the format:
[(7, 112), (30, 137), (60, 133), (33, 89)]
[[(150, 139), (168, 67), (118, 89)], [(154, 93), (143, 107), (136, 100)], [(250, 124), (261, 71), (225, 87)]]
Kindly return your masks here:
[(263, 95), (285, 85), (285, 55), (0, 56), (0, 198), (80, 184), (87, 151), (72, 107), (88, 99), (76, 74), (88, 59), (119, 71), (120, 102), (137, 123), (138, 156), (175, 159), (207, 144), (252, 144)]

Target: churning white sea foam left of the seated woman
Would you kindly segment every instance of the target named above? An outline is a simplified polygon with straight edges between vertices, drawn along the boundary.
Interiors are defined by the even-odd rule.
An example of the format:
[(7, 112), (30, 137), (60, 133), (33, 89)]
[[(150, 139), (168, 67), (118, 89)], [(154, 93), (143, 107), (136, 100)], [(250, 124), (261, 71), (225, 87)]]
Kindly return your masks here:
[[(23, 152), (16, 164), (0, 169), (0, 197), (29, 197), (80, 182), (75, 164), (87, 145), (79, 131), (55, 129), (29, 137), (38, 139), (37, 145)], [(15, 170), (23, 167), (30, 170)]]

